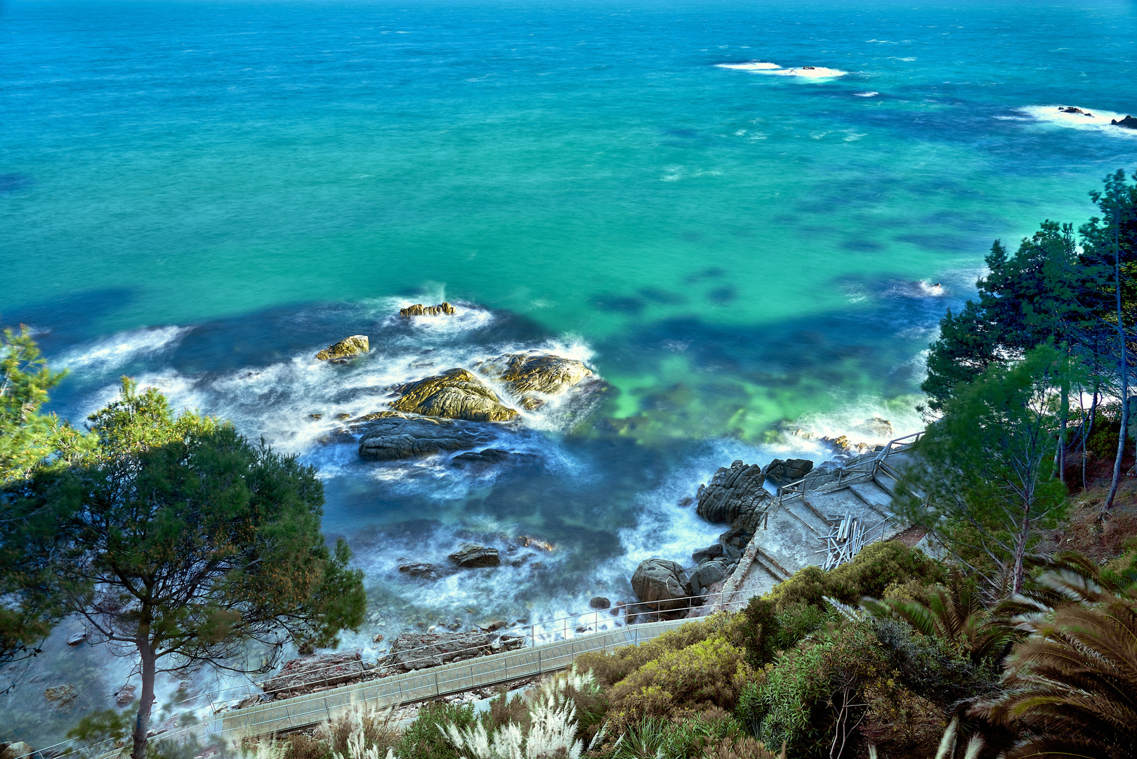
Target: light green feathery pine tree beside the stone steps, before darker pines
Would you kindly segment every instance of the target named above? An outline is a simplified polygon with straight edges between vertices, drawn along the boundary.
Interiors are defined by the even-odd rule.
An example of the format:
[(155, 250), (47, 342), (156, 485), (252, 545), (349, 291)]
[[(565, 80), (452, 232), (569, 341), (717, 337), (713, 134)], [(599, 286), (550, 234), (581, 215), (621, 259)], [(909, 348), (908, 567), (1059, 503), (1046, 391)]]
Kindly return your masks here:
[(932, 531), (1001, 594), (1022, 589), (1038, 530), (1063, 517), (1065, 487), (1053, 467), (1061, 410), (1053, 389), (1076, 373), (1047, 346), (990, 366), (928, 427), (902, 482), (898, 513)]

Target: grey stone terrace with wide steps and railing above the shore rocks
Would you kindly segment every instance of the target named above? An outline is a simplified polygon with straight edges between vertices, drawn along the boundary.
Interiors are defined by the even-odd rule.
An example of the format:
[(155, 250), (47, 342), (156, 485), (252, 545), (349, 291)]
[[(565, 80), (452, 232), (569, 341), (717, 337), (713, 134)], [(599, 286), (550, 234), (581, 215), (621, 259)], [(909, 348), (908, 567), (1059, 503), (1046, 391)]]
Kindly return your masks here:
[(880, 451), (854, 460), (836, 475), (807, 477), (779, 488), (765, 529), (755, 534), (742, 560), (723, 587), (714, 610), (737, 610), (755, 595), (767, 593), (799, 569), (832, 563), (831, 541), (843, 522), (854, 525), (862, 544), (894, 537), (908, 526), (893, 513), (905, 452), (919, 435), (891, 440)]

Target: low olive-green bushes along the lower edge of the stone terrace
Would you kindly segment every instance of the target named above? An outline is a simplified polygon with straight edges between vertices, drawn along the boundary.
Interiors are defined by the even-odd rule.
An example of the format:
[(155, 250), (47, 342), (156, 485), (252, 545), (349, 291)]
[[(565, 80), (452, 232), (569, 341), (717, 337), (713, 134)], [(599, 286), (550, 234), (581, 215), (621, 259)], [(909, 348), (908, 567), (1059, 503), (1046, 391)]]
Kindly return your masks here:
[(779, 612), (795, 604), (823, 608), (825, 596), (855, 605), (866, 595), (880, 597), (894, 583), (919, 579), (930, 584), (944, 577), (943, 566), (922, 551), (898, 541), (883, 541), (866, 545), (853, 561), (832, 571), (805, 567), (775, 585), (769, 597)]

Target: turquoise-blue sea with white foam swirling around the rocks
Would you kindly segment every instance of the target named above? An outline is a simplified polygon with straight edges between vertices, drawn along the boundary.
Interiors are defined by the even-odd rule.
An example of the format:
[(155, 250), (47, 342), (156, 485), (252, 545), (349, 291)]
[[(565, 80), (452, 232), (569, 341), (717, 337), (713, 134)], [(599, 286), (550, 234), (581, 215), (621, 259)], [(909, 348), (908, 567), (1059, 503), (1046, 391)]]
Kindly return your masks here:
[[(1137, 168), (1110, 124), (1135, 41), (1120, 0), (3, 0), (0, 323), (68, 370), (48, 409), (74, 424), (130, 376), (315, 467), (366, 578), (341, 647), (555, 620), (690, 563), (724, 529), (683, 505), (716, 468), (920, 429), (991, 241), (1080, 224)], [(366, 357), (315, 361), (350, 335)], [(528, 350), (597, 381), (495, 428), (524, 465), (325, 440)], [(398, 571), (463, 542), (524, 560)], [(138, 683), (81, 630), (6, 668), (0, 739), (61, 740)], [(166, 675), (159, 713), (255, 679)]]

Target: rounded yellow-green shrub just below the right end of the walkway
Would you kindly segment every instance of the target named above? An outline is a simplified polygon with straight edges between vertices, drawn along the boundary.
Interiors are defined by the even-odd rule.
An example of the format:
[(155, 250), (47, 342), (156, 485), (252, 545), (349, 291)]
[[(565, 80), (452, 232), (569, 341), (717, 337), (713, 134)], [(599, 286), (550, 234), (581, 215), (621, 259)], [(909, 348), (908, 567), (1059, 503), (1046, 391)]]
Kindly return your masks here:
[(612, 729), (619, 732), (645, 717), (686, 717), (711, 707), (733, 709), (752, 676), (744, 650), (723, 637), (666, 651), (612, 688)]

